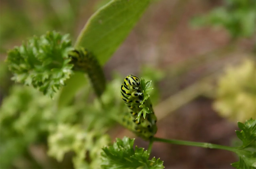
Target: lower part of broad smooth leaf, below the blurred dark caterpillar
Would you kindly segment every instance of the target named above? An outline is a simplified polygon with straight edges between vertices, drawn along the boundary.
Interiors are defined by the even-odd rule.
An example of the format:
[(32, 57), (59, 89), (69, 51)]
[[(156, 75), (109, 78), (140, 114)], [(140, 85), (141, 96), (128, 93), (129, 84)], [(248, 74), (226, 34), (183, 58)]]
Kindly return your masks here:
[(58, 107), (63, 107), (67, 105), (75, 96), (78, 90), (83, 86), (88, 84), (87, 78), (83, 72), (75, 72), (70, 79), (66, 81), (66, 86), (64, 86), (60, 92)]

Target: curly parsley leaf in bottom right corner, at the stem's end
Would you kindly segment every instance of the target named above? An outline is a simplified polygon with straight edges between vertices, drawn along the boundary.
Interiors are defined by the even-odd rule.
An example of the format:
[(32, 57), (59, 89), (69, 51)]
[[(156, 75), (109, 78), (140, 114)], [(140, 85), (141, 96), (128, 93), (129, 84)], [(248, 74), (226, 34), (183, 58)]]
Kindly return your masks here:
[(231, 165), (238, 169), (256, 168), (256, 120), (250, 119), (244, 124), (238, 122), (238, 127), (241, 131), (236, 131), (236, 134), (243, 145), (235, 151), (239, 161)]

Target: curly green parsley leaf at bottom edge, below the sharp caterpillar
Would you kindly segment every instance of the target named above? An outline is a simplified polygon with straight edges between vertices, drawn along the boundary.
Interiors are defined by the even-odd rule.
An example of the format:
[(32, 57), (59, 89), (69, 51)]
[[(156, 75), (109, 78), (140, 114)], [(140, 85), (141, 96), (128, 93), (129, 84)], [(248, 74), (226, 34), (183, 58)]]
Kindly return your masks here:
[(149, 160), (148, 151), (144, 148), (135, 146), (133, 149), (135, 139), (124, 137), (122, 140), (116, 138), (116, 142), (112, 146), (103, 148), (102, 152), (102, 165), (104, 169), (114, 168), (154, 168), (162, 169), (163, 161), (154, 157)]

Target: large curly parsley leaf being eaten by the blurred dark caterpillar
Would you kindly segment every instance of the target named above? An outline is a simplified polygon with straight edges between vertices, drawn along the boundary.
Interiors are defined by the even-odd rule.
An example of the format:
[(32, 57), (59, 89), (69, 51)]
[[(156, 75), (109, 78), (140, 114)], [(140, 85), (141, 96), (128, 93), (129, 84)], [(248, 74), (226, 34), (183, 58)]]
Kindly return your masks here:
[(41, 37), (34, 36), (8, 51), (6, 62), (14, 74), (12, 80), (53, 97), (73, 73), (68, 58), (72, 49), (68, 35), (53, 31)]

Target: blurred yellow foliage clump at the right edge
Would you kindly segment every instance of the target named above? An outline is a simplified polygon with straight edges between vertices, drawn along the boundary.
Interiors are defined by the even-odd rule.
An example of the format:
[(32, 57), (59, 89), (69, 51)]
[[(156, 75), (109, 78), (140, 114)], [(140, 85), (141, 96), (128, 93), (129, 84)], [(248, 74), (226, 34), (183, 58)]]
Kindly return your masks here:
[(220, 116), (245, 122), (256, 114), (256, 71), (254, 60), (244, 60), (235, 67), (227, 67), (220, 77), (217, 98), (213, 104)]

